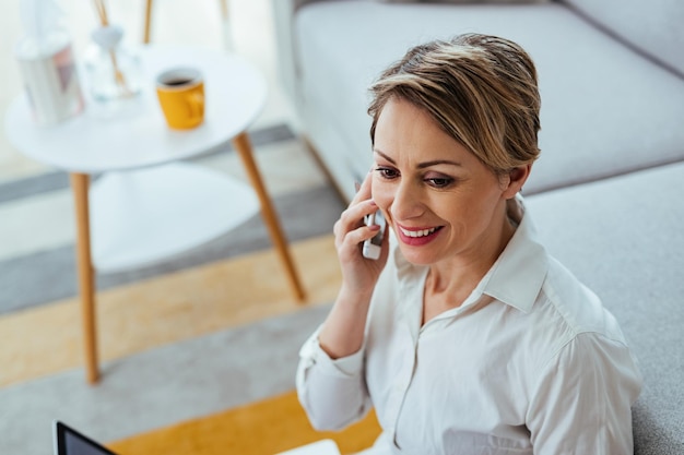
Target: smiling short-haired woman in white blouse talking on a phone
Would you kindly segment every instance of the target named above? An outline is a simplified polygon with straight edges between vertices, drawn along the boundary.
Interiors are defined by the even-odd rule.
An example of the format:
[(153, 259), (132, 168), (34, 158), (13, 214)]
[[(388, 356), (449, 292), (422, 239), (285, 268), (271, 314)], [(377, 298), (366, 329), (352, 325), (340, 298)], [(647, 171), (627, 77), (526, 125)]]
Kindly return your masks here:
[[(375, 165), (334, 226), (342, 286), (300, 352), (311, 423), (375, 407), (372, 453), (632, 454), (636, 362), (518, 194), (539, 155), (530, 57), (463, 35), (411, 49), (372, 91)], [(377, 211), (393, 236), (373, 261)]]

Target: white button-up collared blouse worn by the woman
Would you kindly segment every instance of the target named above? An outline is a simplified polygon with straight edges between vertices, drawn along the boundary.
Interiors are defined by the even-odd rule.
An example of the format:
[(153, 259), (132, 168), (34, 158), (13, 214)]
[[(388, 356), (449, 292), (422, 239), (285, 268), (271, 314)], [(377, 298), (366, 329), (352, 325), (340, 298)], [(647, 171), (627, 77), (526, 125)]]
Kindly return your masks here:
[(470, 297), (421, 326), (426, 266), (396, 240), (362, 349), (331, 360), (318, 331), (300, 350), (299, 400), (317, 429), (375, 407), (369, 453), (633, 453), (641, 375), (614, 316), (534, 240), (522, 199), (516, 234)]

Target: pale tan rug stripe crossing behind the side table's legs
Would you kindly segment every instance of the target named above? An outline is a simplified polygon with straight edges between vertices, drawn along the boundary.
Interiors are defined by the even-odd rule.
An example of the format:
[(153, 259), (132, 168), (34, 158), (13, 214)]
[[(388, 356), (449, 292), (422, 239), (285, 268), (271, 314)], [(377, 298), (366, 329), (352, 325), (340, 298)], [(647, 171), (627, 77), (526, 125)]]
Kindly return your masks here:
[[(291, 244), (306, 304), (334, 299), (341, 282), (332, 236)], [(39, 284), (37, 284), (39, 285)], [(273, 250), (97, 294), (102, 360), (304, 308)], [(82, 364), (78, 298), (0, 318), (0, 387)]]

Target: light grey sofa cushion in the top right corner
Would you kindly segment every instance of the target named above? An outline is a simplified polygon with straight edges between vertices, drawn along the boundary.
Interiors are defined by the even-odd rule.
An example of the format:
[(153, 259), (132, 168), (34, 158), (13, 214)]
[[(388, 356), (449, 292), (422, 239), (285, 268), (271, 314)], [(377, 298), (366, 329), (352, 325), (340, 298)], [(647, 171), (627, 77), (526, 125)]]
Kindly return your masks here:
[(684, 1), (564, 1), (684, 76)]

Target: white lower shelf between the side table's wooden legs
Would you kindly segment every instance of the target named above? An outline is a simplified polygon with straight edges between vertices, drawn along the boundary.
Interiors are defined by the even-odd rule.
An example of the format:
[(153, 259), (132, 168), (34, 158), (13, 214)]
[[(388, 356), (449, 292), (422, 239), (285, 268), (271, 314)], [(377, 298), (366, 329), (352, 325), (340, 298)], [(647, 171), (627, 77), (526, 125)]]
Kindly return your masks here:
[(104, 273), (154, 265), (259, 212), (249, 185), (189, 163), (108, 172), (90, 205), (93, 263)]

